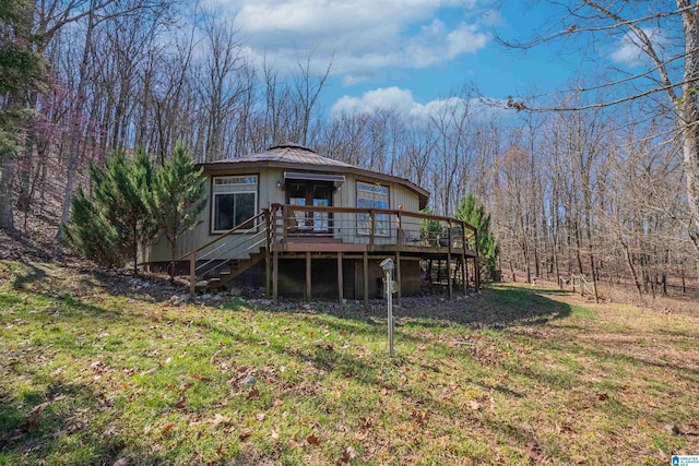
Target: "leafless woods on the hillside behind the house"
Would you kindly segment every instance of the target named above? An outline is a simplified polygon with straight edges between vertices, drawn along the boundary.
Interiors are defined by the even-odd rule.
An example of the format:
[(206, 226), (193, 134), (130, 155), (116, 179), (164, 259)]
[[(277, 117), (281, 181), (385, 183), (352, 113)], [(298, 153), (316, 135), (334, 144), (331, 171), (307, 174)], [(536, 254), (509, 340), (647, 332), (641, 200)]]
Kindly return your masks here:
[(214, 14), (157, 0), (52, 0), (0, 2), (0, 21), (3, 57), (7, 44), (26, 53), (0, 84), (7, 231), (60, 238), (75, 195), (81, 215), (83, 193), (98, 190), (88, 167), (112, 153), (168, 166), (185, 147), (212, 162), (296, 141), (429, 187), (438, 215), (473, 213), (462, 204), (472, 193), (491, 216), (494, 267), (509, 279), (582, 272), (639, 294), (682, 292), (696, 279), (682, 141), (655, 101), (595, 106), (608, 96), (569, 92), (549, 104), (577, 111), (516, 112), (465, 85), (428, 115), (337, 113), (319, 104), (332, 63), (318, 70), (309, 52), (291, 75), (252, 63), (235, 23)]

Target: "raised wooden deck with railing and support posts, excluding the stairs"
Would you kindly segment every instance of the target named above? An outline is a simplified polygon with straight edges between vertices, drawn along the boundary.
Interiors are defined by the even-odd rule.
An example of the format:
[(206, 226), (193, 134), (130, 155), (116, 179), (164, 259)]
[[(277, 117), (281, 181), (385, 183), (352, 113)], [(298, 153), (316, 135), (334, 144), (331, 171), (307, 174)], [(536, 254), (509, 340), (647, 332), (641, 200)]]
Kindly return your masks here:
[[(268, 289), (279, 297), (280, 260), (306, 258), (306, 297), (311, 294), (313, 258), (337, 261), (339, 300), (343, 301), (343, 260), (362, 258), (364, 301), (368, 304), (368, 262), (390, 256), (395, 263), (398, 303), (401, 302), (401, 259), (446, 261), (461, 271), (463, 291), (467, 287), (467, 262), (473, 263), (474, 284), (479, 287), (477, 230), (452, 217), (402, 210), (320, 207), (273, 204), (270, 210), (270, 254)], [(453, 296), (451, 274), (447, 274), (449, 298)], [(271, 282), (271, 283), (270, 283)]]

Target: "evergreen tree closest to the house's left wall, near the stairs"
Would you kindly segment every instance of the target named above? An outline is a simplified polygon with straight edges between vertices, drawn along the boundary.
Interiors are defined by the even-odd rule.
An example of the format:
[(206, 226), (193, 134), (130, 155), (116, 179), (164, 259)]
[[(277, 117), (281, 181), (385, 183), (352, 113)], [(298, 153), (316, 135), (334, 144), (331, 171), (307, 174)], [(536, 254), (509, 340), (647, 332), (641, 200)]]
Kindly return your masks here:
[(205, 187), (202, 169), (194, 169), (191, 153), (178, 141), (173, 155), (157, 171), (153, 196), (155, 222), (170, 244), (170, 278), (175, 276), (177, 239), (197, 224), (206, 205)]

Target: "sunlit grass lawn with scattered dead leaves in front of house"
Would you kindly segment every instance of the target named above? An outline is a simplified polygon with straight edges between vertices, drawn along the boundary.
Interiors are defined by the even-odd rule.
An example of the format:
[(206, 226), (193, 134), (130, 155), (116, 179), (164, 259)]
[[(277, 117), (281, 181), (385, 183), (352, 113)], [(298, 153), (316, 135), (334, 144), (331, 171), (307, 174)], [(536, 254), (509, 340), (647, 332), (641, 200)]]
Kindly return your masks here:
[(698, 315), (498, 285), (406, 300), (389, 359), (378, 308), (176, 307), (115, 279), (0, 262), (0, 465), (699, 454)]

